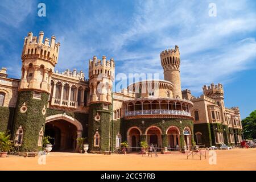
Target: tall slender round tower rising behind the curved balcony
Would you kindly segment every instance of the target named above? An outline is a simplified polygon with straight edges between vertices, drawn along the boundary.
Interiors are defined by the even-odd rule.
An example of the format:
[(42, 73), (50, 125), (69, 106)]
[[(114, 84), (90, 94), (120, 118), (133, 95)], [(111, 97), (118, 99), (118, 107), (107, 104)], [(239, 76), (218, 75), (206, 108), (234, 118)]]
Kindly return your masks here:
[(182, 98), (180, 84), (180, 52), (179, 47), (168, 49), (160, 53), (161, 64), (164, 69), (164, 80), (174, 84), (174, 98)]

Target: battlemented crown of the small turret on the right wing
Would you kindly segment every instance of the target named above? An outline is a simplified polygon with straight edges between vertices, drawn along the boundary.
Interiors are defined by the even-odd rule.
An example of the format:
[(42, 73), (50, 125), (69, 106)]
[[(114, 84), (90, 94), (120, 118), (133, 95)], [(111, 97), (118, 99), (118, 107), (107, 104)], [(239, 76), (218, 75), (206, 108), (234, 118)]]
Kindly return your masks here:
[(222, 84), (218, 83), (218, 85), (210, 84), (210, 86), (203, 86), (203, 93), (211, 98), (221, 97), (224, 98), (224, 89)]

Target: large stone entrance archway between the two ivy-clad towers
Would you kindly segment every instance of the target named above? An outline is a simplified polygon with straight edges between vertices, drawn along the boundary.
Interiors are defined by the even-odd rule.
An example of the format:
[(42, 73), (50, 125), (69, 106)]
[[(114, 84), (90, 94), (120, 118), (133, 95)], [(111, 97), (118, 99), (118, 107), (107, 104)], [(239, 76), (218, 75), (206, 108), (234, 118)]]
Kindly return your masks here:
[(73, 146), (75, 151), (79, 151), (76, 138), (82, 137), (82, 124), (77, 119), (67, 114), (51, 115), (46, 118), (46, 130), (49, 128), (54, 134), (57, 134), (56, 142), (58, 143), (56, 145), (60, 150)]

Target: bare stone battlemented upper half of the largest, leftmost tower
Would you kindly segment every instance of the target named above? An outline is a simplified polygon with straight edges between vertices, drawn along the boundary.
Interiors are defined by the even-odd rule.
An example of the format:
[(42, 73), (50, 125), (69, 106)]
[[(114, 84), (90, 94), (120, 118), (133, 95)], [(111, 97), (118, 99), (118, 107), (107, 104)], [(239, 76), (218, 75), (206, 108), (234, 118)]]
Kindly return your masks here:
[(39, 37), (32, 32), (24, 39), (22, 50), (22, 78), (19, 90), (51, 91), (51, 76), (57, 64), (60, 43), (55, 43), (55, 36), (51, 40), (45, 38), (44, 32)]

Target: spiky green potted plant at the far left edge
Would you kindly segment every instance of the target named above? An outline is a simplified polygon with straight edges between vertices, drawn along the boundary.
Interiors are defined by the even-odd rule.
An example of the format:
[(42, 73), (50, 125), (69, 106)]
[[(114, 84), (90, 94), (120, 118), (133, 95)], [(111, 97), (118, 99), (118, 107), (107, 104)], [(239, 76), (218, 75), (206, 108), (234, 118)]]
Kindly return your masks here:
[(5, 158), (13, 149), (13, 141), (10, 140), (11, 135), (0, 132), (0, 157)]

